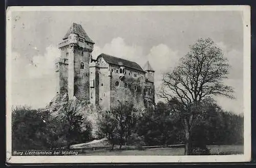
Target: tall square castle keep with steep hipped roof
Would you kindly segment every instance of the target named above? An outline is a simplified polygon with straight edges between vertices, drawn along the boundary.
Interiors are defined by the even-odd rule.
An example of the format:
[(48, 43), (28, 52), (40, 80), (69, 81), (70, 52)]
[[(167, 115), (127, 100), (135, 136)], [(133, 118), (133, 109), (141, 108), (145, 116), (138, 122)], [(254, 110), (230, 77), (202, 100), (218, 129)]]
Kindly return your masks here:
[(59, 78), (59, 92), (68, 93), (80, 101), (89, 102), (89, 63), (95, 43), (81, 25), (73, 23), (58, 44), (61, 56), (56, 63)]

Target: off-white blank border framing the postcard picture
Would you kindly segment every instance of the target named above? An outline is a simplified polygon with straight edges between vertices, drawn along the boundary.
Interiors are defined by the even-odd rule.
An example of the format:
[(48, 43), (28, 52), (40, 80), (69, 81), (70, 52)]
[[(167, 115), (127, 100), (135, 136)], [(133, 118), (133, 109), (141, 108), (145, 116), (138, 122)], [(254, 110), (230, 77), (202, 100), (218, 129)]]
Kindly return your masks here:
[[(244, 154), (211, 156), (11, 156), (12, 11), (241, 11), (244, 25)], [(6, 147), (8, 163), (241, 162), (251, 159), (250, 6), (65, 6), (8, 7), (6, 12)]]

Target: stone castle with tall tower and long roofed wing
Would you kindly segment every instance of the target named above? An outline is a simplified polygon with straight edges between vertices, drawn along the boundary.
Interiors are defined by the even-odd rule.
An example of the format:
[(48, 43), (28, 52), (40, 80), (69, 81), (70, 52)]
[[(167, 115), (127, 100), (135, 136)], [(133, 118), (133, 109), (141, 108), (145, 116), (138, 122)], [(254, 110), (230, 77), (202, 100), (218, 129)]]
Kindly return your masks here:
[(92, 58), (94, 41), (81, 25), (73, 23), (58, 44), (56, 62), (58, 92), (69, 99), (99, 105), (110, 110), (119, 102), (131, 102), (137, 108), (155, 103), (154, 70), (149, 62), (141, 68), (136, 62), (100, 54)]

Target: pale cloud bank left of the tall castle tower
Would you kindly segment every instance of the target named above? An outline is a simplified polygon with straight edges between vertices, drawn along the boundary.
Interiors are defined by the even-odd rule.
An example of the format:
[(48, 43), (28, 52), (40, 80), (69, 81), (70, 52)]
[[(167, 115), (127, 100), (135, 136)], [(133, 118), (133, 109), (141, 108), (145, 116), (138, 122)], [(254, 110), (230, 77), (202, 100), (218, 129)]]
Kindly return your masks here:
[(44, 55), (32, 59), (12, 53), (12, 105), (44, 107), (56, 93), (57, 78), (54, 73), (54, 61), (59, 50), (52, 45), (46, 48)]

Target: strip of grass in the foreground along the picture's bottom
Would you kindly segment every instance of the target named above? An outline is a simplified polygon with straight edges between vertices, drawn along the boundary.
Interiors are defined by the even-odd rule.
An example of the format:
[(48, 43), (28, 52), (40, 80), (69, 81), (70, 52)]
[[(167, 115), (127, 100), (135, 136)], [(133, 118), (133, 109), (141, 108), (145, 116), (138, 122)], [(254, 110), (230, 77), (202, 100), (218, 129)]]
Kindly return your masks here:
[[(221, 145), (208, 146), (211, 155), (243, 154), (243, 145)], [(107, 156), (129, 156), (129, 155), (184, 155), (184, 148), (156, 148), (146, 150), (123, 150), (123, 151), (88, 151), (81, 155), (107, 155)]]

